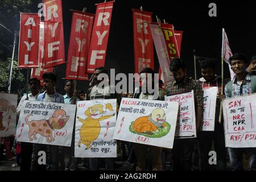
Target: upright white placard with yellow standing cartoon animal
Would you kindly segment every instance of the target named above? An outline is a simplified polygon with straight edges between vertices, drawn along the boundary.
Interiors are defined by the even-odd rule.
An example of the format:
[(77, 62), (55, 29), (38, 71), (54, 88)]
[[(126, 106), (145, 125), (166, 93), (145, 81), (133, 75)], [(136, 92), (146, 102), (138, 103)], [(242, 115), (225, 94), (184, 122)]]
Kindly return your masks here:
[(117, 157), (117, 142), (113, 139), (117, 100), (79, 101), (76, 115), (75, 157)]

